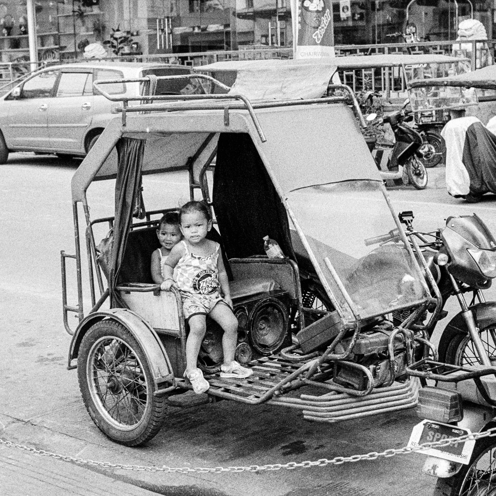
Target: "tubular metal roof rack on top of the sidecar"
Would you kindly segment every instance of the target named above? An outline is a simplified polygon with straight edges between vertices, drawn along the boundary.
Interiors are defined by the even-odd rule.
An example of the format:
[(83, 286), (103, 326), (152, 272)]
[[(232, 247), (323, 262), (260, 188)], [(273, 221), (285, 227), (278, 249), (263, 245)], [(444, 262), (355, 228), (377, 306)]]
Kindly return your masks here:
[[(122, 125), (126, 125), (126, 114), (128, 112), (160, 112), (160, 111), (179, 111), (179, 110), (223, 110), (224, 123), (229, 125), (230, 110), (247, 110), (253, 125), (260, 137), (262, 143), (267, 141), (265, 134), (258, 122), (254, 109), (265, 109), (273, 107), (290, 107), (295, 105), (309, 104), (330, 104), (330, 103), (345, 103), (353, 107), (355, 116), (363, 128), (367, 127), (367, 123), (362, 115), (358, 101), (353, 93), (353, 90), (345, 84), (331, 84), (329, 89), (343, 90), (347, 93), (345, 96), (323, 96), (322, 98), (298, 99), (298, 100), (262, 100), (256, 103), (251, 103), (248, 98), (241, 93), (207, 93), (199, 95), (140, 95), (140, 96), (122, 96), (111, 95), (107, 93), (101, 85), (116, 84), (116, 83), (150, 83), (150, 81), (175, 80), (175, 79), (205, 79), (222, 90), (229, 91), (231, 88), (212, 76), (206, 74), (182, 74), (176, 76), (150, 76), (135, 77), (135, 78), (119, 78), (119, 79), (102, 79), (93, 82), (95, 91), (112, 102), (122, 102), (123, 106), (115, 109), (116, 112), (122, 113)], [(153, 103), (160, 101), (163, 103)], [(140, 102), (138, 105), (129, 106), (129, 102)], [(151, 102), (151, 103), (150, 103)], [(167, 103), (169, 102), (169, 103)]]

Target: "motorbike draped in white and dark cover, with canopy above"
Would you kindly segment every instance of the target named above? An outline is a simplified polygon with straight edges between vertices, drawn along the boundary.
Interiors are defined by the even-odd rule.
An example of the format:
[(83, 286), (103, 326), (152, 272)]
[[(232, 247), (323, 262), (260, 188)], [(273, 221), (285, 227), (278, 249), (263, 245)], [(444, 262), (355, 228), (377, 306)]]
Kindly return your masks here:
[[(474, 95), (476, 89), (496, 90), (496, 66), (449, 77), (413, 80), (410, 86), (412, 91), (461, 91), (462, 95)], [(486, 95), (480, 100), (495, 101), (496, 96)], [(444, 126), (449, 194), (476, 202), (484, 193), (496, 192), (496, 135), (490, 129), (475, 116), (452, 119)]]

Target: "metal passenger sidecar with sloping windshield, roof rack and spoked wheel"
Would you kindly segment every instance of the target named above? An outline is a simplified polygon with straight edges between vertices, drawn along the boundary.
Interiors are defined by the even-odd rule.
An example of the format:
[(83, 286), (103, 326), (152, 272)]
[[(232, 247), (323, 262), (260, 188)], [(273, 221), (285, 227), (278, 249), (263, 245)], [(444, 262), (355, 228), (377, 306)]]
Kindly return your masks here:
[[(295, 70), (305, 80), (307, 68)], [(334, 70), (319, 64), (322, 84)], [(253, 370), (248, 379), (220, 376), (222, 330), (207, 319), (198, 367), (210, 398), (296, 408), (329, 423), (417, 404), (419, 382), (405, 370), (429, 353), (439, 291), (392, 209), (353, 94), (345, 88), (344, 96), (312, 98), (272, 70), (259, 75), (259, 85), (270, 83), (269, 99), (231, 92), (130, 105), (132, 98), (105, 91), (109, 81), (94, 83), (123, 104), (122, 115), (72, 179), (76, 251), (62, 252), (63, 309), (73, 334), (69, 369), (77, 367), (91, 418), (117, 442), (151, 439), (167, 405), (183, 405), (180, 393), (191, 387), (183, 378), (181, 296), (161, 291), (150, 274), (160, 217), (190, 198), (203, 199), (214, 215), (210, 235), (221, 244), (239, 322), (236, 360)], [(93, 219), (88, 191), (102, 208), (109, 191), (102, 182), (112, 181), (115, 208)], [(265, 255), (267, 235), (285, 258)], [(76, 261), (77, 306), (67, 304), (67, 258)], [(79, 317), (74, 331), (71, 311)]]

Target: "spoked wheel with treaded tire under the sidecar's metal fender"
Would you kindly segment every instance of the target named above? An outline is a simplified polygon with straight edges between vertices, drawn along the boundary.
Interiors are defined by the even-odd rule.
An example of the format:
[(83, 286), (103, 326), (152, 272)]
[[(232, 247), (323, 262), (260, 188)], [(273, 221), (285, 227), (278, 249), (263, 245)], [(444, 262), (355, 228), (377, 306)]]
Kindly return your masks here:
[(84, 405), (110, 439), (138, 446), (163, 424), (165, 397), (156, 397), (153, 375), (134, 336), (114, 320), (102, 320), (84, 335), (77, 376)]

